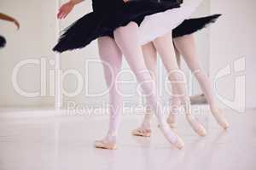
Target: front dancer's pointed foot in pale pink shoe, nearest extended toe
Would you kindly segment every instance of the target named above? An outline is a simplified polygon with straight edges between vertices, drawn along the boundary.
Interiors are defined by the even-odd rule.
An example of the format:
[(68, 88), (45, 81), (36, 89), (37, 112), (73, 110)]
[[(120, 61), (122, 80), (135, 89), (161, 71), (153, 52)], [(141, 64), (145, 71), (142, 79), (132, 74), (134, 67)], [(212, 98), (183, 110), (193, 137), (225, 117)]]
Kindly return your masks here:
[(164, 126), (160, 125), (160, 130), (164, 133), (166, 139), (177, 149), (181, 150), (184, 147), (183, 140), (177, 136), (176, 133), (166, 124)]

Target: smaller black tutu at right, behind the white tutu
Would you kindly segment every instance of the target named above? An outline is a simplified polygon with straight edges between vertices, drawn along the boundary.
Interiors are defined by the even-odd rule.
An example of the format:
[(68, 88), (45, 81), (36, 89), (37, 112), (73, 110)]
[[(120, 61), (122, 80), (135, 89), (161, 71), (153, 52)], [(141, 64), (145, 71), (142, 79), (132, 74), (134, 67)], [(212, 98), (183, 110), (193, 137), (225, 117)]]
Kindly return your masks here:
[(213, 14), (207, 17), (184, 20), (183, 23), (172, 30), (172, 37), (182, 37), (200, 31), (209, 24), (214, 23), (221, 14)]

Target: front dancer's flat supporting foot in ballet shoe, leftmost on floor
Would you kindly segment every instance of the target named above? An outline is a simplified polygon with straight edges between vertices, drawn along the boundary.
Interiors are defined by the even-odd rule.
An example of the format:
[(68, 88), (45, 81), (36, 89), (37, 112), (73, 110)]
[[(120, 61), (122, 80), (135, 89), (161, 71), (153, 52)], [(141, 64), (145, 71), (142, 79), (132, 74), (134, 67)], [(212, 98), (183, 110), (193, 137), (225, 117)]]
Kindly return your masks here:
[(102, 140), (96, 140), (94, 143), (96, 148), (105, 149), (105, 150), (116, 150), (116, 137), (106, 137)]

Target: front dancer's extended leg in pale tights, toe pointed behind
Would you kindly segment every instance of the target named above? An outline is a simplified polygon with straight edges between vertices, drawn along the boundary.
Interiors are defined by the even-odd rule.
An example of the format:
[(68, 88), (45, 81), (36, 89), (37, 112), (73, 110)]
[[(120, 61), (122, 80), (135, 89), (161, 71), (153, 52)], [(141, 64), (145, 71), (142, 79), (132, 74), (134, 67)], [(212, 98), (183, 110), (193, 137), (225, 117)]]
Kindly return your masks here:
[(143, 59), (143, 50), (139, 44), (138, 26), (135, 22), (130, 22), (127, 26), (119, 27), (113, 32), (115, 42), (118, 44), (122, 53), (125, 55), (127, 63), (131, 67), (131, 71), (136, 75), (137, 82), (143, 88), (147, 102), (154, 110), (155, 116), (160, 123), (162, 132), (166, 139), (171, 143), (177, 142), (177, 135), (168, 127), (163, 106), (160, 102), (155, 83), (151, 77)]

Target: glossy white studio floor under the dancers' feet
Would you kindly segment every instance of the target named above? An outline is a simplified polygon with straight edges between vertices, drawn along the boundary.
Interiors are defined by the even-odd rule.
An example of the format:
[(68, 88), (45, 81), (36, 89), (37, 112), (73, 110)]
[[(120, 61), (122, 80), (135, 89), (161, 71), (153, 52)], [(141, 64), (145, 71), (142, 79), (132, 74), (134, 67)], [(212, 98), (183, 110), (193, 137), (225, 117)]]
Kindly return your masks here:
[(183, 150), (173, 149), (155, 122), (151, 138), (132, 137), (141, 116), (123, 117), (118, 150), (93, 147), (94, 139), (106, 132), (106, 116), (0, 116), (0, 170), (255, 170), (255, 111), (226, 113), (226, 132), (208, 112), (201, 117), (208, 130), (205, 138), (178, 116)]

